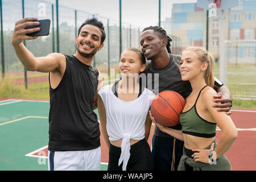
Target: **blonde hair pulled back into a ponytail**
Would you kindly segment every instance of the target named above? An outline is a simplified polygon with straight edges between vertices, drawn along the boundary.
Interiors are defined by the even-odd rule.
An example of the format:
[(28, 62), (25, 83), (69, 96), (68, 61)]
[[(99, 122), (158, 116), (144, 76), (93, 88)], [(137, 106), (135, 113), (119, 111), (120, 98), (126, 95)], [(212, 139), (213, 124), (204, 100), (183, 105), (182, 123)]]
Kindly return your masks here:
[(214, 59), (210, 52), (208, 52), (204, 47), (188, 47), (184, 51), (193, 51), (197, 53), (198, 59), (202, 63), (207, 63), (207, 69), (204, 72), (205, 83), (213, 88), (214, 86), (214, 76), (213, 76), (213, 68), (214, 68)]

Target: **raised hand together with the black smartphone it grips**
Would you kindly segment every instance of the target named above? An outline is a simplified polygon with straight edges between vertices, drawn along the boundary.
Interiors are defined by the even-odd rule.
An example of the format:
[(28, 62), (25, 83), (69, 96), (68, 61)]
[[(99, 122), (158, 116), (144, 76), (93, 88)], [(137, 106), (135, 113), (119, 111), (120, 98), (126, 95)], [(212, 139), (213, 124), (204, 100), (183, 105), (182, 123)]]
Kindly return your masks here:
[(23, 40), (33, 40), (38, 38), (38, 36), (48, 35), (49, 24), (50, 20), (38, 20), (38, 18), (19, 20), (15, 23), (11, 44), (18, 46)]

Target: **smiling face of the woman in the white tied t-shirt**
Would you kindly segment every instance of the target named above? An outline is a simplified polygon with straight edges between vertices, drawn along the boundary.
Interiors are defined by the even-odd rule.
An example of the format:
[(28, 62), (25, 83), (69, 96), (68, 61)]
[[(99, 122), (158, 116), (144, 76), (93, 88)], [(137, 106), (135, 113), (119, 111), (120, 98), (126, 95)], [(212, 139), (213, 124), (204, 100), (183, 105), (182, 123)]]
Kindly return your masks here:
[(119, 62), (119, 72), (122, 77), (134, 76), (143, 72), (146, 64), (142, 64), (139, 55), (135, 51), (126, 49), (121, 54), (121, 59)]

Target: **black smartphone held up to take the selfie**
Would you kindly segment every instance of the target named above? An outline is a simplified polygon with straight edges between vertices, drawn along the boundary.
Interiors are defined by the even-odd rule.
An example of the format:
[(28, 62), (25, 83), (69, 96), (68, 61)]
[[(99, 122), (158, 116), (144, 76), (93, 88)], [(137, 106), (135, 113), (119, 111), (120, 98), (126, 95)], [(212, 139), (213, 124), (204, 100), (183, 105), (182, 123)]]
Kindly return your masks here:
[(30, 26), (30, 27), (26, 27), (25, 29), (39, 27), (39, 28), (41, 28), (40, 31), (32, 32), (30, 34), (26, 34), (27, 36), (46, 36), (46, 35), (49, 35), (49, 28), (50, 28), (51, 20), (41, 19), (41, 20), (35, 20), (35, 22), (40, 22), (39, 26)]

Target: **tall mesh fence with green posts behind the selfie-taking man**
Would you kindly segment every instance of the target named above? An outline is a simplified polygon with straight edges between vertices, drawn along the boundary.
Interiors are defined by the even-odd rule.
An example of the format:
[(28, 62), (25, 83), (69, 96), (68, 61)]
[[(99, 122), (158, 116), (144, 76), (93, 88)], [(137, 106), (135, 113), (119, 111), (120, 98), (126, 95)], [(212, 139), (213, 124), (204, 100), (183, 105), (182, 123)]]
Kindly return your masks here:
[[(16, 57), (11, 46), (11, 35), (15, 22), (23, 17), (51, 19), (48, 36), (24, 42), (35, 56), (46, 56), (51, 52), (73, 54), (76, 51), (75, 39), (80, 25), (88, 18), (96, 16), (104, 23), (106, 40), (104, 48), (94, 58), (93, 66), (109, 73), (119, 62), (119, 20), (113, 20), (97, 14), (71, 9), (39, 0), (0, 0), (1, 2), (1, 77), (23, 75), (24, 67)], [(58, 13), (57, 13), (58, 12)], [(122, 49), (139, 46), (141, 29), (139, 26), (122, 22)], [(31, 74), (31, 73), (28, 73)]]

